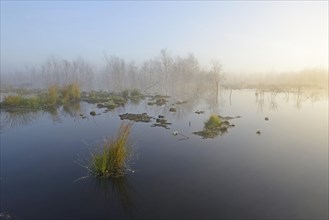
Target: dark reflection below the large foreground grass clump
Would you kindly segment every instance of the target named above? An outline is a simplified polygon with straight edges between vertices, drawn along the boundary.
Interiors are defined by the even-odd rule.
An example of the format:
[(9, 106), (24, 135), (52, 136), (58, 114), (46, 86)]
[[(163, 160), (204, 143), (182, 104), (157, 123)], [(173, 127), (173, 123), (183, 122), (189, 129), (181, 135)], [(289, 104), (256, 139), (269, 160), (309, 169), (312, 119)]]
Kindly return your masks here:
[(129, 214), (138, 211), (135, 200), (139, 195), (127, 177), (96, 178), (95, 181), (97, 190), (104, 193), (107, 199), (118, 198), (122, 208)]

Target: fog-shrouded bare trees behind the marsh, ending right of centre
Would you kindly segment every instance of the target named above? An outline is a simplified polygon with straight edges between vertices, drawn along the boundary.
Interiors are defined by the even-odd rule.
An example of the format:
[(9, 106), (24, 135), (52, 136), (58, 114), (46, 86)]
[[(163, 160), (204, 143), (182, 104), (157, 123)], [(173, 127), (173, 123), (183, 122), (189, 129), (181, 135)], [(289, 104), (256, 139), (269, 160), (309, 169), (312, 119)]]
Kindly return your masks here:
[(163, 49), (159, 55), (137, 64), (118, 56), (104, 56), (96, 66), (83, 58), (66, 60), (49, 57), (38, 67), (14, 73), (1, 73), (1, 87), (48, 88), (77, 83), (83, 91), (110, 92), (136, 88), (142, 92), (165, 95), (202, 92), (223, 80), (219, 62), (202, 67), (193, 54), (173, 56)]

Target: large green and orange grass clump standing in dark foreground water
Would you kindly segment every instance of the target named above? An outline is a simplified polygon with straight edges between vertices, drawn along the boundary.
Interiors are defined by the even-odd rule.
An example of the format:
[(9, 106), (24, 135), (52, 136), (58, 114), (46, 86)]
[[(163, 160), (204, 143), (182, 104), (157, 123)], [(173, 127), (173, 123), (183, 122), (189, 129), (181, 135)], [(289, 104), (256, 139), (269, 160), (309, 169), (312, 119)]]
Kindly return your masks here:
[(93, 152), (90, 171), (100, 177), (120, 177), (125, 174), (131, 155), (128, 139), (132, 123), (122, 123), (114, 139), (106, 139), (100, 152)]

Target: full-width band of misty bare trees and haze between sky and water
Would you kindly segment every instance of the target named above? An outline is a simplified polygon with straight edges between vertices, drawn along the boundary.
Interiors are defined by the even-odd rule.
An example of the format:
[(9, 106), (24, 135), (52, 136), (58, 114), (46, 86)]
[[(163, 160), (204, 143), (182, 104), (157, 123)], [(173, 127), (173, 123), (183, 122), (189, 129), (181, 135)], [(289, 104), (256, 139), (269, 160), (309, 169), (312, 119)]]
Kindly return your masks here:
[(49, 57), (40, 66), (24, 71), (1, 73), (1, 90), (10, 88), (45, 89), (77, 83), (83, 91), (120, 92), (139, 89), (145, 93), (194, 96), (204, 90), (224, 88), (299, 87), (328, 88), (328, 70), (304, 69), (298, 72), (234, 74), (226, 72), (220, 61), (203, 67), (193, 54), (172, 55), (161, 50), (158, 56), (140, 64), (117, 56), (104, 56), (102, 65), (79, 57), (75, 60)]

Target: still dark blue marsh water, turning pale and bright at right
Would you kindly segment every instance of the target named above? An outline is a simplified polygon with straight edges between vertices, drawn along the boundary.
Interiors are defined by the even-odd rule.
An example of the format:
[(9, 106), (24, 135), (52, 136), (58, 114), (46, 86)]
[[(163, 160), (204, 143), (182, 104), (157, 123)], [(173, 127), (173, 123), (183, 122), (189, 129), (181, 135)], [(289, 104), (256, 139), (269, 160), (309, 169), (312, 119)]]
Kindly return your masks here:
[[(175, 101), (148, 106), (145, 100), (107, 113), (82, 102), (1, 112), (0, 212), (16, 219), (328, 218), (327, 93), (223, 90), (169, 112)], [(93, 117), (92, 110), (101, 114)], [(75, 161), (88, 157), (86, 143), (114, 136), (119, 114), (143, 112), (172, 125), (134, 123), (134, 172), (85, 178)], [(194, 135), (212, 113), (241, 118), (215, 138)]]

